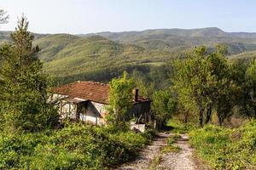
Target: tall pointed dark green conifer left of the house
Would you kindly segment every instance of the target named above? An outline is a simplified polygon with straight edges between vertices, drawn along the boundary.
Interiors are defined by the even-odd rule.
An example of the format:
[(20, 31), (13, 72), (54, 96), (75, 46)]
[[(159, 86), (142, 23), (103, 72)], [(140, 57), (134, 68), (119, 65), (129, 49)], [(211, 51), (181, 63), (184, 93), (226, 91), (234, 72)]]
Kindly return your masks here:
[(11, 34), (12, 44), (0, 49), (1, 115), (12, 129), (38, 131), (58, 121), (53, 105), (48, 102), (49, 80), (43, 63), (36, 58), (39, 48), (32, 47), (32, 34), (27, 31), (24, 16)]

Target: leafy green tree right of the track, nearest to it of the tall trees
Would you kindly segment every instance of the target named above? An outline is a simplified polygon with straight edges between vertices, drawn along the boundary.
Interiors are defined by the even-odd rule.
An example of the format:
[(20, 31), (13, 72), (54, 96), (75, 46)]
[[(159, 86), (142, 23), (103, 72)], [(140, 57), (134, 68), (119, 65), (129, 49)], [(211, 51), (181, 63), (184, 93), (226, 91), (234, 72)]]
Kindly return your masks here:
[(207, 82), (212, 82), (207, 65), (207, 48), (195, 48), (188, 58), (174, 63), (176, 76), (172, 79), (179, 102), (189, 110), (199, 111), (199, 122), (203, 125), (203, 114), (211, 103)]

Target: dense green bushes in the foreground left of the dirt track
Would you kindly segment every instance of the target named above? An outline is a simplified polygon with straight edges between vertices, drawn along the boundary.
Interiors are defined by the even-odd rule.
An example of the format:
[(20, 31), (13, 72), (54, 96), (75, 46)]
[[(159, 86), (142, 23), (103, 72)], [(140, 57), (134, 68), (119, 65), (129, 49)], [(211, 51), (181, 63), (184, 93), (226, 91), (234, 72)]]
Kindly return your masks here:
[(135, 156), (149, 136), (79, 123), (41, 133), (1, 133), (0, 168), (105, 169)]

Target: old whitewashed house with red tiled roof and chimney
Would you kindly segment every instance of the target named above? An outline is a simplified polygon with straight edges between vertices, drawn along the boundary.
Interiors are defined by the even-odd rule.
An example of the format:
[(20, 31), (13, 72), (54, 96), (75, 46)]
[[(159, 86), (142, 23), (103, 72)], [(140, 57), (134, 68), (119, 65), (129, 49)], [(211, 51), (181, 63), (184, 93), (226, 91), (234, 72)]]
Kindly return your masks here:
[[(101, 82), (73, 82), (55, 88), (52, 99), (59, 105), (61, 118), (106, 125), (109, 85)], [(148, 122), (151, 99), (139, 96), (134, 90), (133, 107), (129, 116)]]

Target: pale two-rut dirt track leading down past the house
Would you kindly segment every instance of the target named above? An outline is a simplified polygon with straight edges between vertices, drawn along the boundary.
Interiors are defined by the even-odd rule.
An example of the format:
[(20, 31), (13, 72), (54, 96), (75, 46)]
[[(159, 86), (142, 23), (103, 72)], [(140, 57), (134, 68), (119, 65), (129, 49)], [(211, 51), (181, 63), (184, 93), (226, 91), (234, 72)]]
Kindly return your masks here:
[[(166, 146), (166, 139), (173, 134), (159, 133), (159, 137), (141, 151), (140, 156), (135, 161), (123, 164), (116, 168), (119, 170), (195, 170), (202, 169), (195, 166), (193, 159), (193, 149), (189, 147), (189, 137), (186, 134), (181, 134), (181, 139), (177, 139), (175, 143), (181, 149), (178, 152), (161, 153), (161, 149)], [(154, 167), (152, 163), (155, 158), (159, 158)]]

